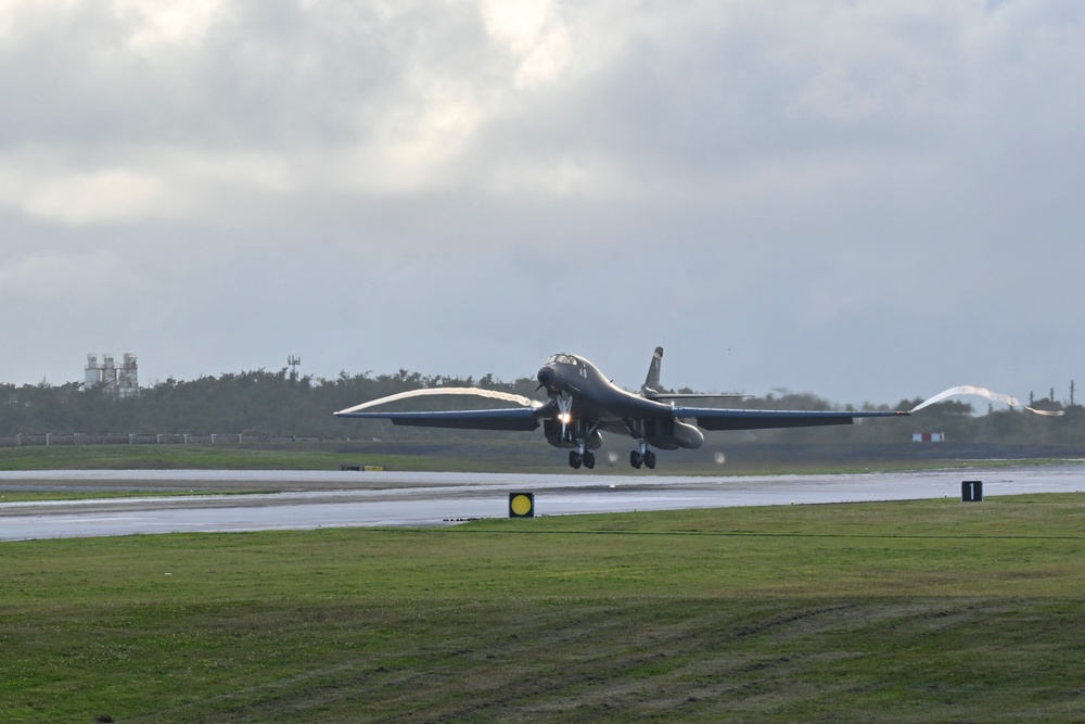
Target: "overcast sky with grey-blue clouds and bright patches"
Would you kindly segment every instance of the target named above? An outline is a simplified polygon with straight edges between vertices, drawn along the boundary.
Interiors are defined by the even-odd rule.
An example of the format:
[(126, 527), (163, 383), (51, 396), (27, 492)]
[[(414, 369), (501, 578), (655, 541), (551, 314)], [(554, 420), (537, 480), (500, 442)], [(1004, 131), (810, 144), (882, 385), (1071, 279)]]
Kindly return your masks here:
[(1085, 384), (1085, 3), (0, 0), (0, 103), (3, 382)]

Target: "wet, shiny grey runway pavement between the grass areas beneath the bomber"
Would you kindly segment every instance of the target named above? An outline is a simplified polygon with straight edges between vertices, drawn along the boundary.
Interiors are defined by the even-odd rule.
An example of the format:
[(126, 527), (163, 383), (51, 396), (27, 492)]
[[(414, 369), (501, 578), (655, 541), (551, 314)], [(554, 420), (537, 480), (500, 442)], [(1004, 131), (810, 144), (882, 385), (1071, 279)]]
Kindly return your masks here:
[[(448, 525), (507, 517), (510, 492), (534, 493), (537, 516), (959, 499), (963, 480), (982, 481), (985, 497), (1082, 492), (1085, 461), (967, 471), (765, 477), (192, 470), (0, 472), (0, 496), (4, 491), (42, 490), (166, 494), (39, 503), (3, 503), (0, 497), (0, 541)], [(234, 494), (238, 491), (246, 493)]]

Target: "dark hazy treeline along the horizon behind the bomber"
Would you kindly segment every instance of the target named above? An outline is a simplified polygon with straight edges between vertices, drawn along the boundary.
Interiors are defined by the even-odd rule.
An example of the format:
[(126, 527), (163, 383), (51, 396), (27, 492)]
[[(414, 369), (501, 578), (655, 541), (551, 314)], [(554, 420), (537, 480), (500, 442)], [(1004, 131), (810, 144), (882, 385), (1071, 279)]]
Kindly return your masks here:
[[(502, 382), (487, 374), (481, 379), (423, 376), (399, 370), (395, 374), (340, 373), (334, 380), (295, 377), (286, 368), (174, 379), (143, 389), (138, 396), (118, 398), (106, 388), (84, 390), (81, 383), (0, 384), (0, 435), (82, 432), (107, 433), (243, 433), (324, 439), (448, 440), (492, 437), (495, 433), (399, 428), (383, 421), (336, 418), (334, 410), (421, 388), (470, 388), (538, 397), (537, 382), (521, 378)], [(692, 392), (682, 390), (682, 392)], [(873, 409), (908, 410), (921, 399), (903, 399), (895, 406)], [(834, 405), (813, 394), (782, 394), (728, 401), (730, 406), (770, 409), (832, 409)], [(455, 405), (493, 405), (471, 397), (425, 397), (404, 403), (404, 409), (437, 409)], [(1044, 417), (1004, 406), (948, 401), (932, 405), (908, 419), (876, 419), (839, 428), (763, 430), (726, 435), (751, 442), (907, 442), (912, 433), (939, 432), (957, 443), (1074, 445), (1085, 441), (1085, 408), (1062, 407), (1038, 401), (1035, 407), (1061, 409), (1062, 417)], [(503, 433), (522, 435), (523, 433)]]

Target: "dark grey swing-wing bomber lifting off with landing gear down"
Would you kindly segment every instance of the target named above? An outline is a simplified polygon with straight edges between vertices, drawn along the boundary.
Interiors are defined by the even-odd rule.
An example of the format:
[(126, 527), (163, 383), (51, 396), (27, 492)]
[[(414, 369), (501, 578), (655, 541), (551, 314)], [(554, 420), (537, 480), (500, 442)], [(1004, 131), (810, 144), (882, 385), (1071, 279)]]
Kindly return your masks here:
[[(474, 388), (435, 388), (382, 397), (335, 412), (339, 417), (375, 418), (394, 424), (460, 428), (473, 430), (537, 430), (554, 447), (567, 448), (573, 468), (593, 468), (592, 450), (602, 445), (600, 433), (628, 435), (637, 442), (629, 453), (634, 468), (655, 468), (655, 447), (663, 450), (697, 449), (704, 443), (701, 430), (754, 430), (851, 424), (854, 418), (897, 417), (897, 411), (753, 410), (692, 407), (677, 404), (693, 398), (741, 397), (743, 395), (675, 394), (661, 391), (660, 366), (663, 347), (656, 347), (640, 392), (622, 390), (590, 361), (573, 354), (552, 355), (536, 376), (546, 403), (521, 395)], [(437, 410), (417, 412), (376, 411), (385, 403), (420, 395), (477, 394), (519, 403), (500, 409)]]

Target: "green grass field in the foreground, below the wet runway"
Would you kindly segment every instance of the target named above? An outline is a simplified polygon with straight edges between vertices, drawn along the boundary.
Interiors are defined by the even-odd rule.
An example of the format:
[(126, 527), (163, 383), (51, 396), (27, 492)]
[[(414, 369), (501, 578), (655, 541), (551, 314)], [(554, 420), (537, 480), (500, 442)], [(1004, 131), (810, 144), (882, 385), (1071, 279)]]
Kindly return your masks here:
[(0, 546), (0, 721), (1085, 719), (1085, 496)]

